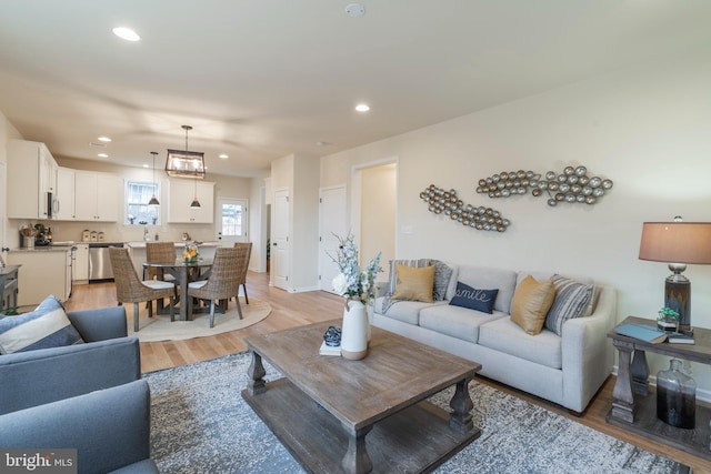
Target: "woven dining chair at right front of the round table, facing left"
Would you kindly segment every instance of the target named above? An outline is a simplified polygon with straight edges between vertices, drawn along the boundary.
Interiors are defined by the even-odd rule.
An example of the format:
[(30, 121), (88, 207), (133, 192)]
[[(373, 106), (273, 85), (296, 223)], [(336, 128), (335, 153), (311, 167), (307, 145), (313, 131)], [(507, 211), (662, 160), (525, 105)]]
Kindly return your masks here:
[[(189, 314), (192, 314), (192, 299), (210, 301), (210, 327), (214, 327), (214, 302), (219, 301), (218, 311), (224, 313), (227, 303), (232, 296), (237, 296), (240, 289), (240, 273), (244, 260), (249, 258), (247, 248), (220, 246), (214, 252), (212, 269), (207, 280), (188, 283)], [(237, 299), (237, 312), (242, 319), (242, 307)]]

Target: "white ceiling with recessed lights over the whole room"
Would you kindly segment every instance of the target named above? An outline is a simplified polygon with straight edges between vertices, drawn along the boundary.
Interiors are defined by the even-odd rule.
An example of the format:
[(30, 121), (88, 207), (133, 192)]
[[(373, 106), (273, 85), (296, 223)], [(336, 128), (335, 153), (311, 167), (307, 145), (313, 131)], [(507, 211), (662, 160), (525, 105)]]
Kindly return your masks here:
[(134, 167), (151, 151), (162, 167), (188, 124), (208, 173), (256, 177), (711, 47), (708, 0), (362, 0), (360, 18), (349, 3), (3, 0), (0, 111), (56, 157)]

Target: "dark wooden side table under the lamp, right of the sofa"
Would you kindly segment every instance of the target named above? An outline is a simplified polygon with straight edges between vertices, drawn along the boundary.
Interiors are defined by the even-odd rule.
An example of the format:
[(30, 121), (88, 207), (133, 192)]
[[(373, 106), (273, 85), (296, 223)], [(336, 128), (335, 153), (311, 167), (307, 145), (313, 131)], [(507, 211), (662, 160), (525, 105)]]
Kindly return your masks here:
[[(655, 327), (655, 321), (629, 316), (622, 324), (645, 324)], [(618, 379), (612, 392), (612, 407), (607, 421), (642, 436), (672, 445), (693, 455), (711, 460), (711, 409), (697, 405), (695, 428), (684, 430), (668, 425), (657, 417), (657, 395), (649, 390), (647, 352), (711, 364), (711, 330), (694, 327), (695, 344), (652, 344), (628, 337), (610, 330), (608, 337), (619, 354)]]

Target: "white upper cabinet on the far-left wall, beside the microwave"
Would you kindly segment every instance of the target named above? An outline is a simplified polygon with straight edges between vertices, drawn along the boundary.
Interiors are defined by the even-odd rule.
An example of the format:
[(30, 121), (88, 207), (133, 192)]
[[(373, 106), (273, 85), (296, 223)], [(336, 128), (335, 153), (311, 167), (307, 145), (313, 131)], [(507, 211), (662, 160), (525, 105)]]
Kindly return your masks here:
[(8, 218), (56, 219), (57, 162), (44, 143), (8, 141)]

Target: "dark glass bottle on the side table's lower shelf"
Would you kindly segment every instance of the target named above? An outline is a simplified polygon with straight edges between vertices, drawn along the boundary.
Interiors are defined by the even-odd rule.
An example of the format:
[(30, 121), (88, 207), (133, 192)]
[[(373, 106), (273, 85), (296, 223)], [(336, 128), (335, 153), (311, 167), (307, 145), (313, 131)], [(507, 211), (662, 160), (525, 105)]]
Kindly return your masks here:
[(657, 417), (667, 424), (693, 428), (697, 415), (697, 383), (680, 371), (672, 359), (668, 371), (657, 373)]

